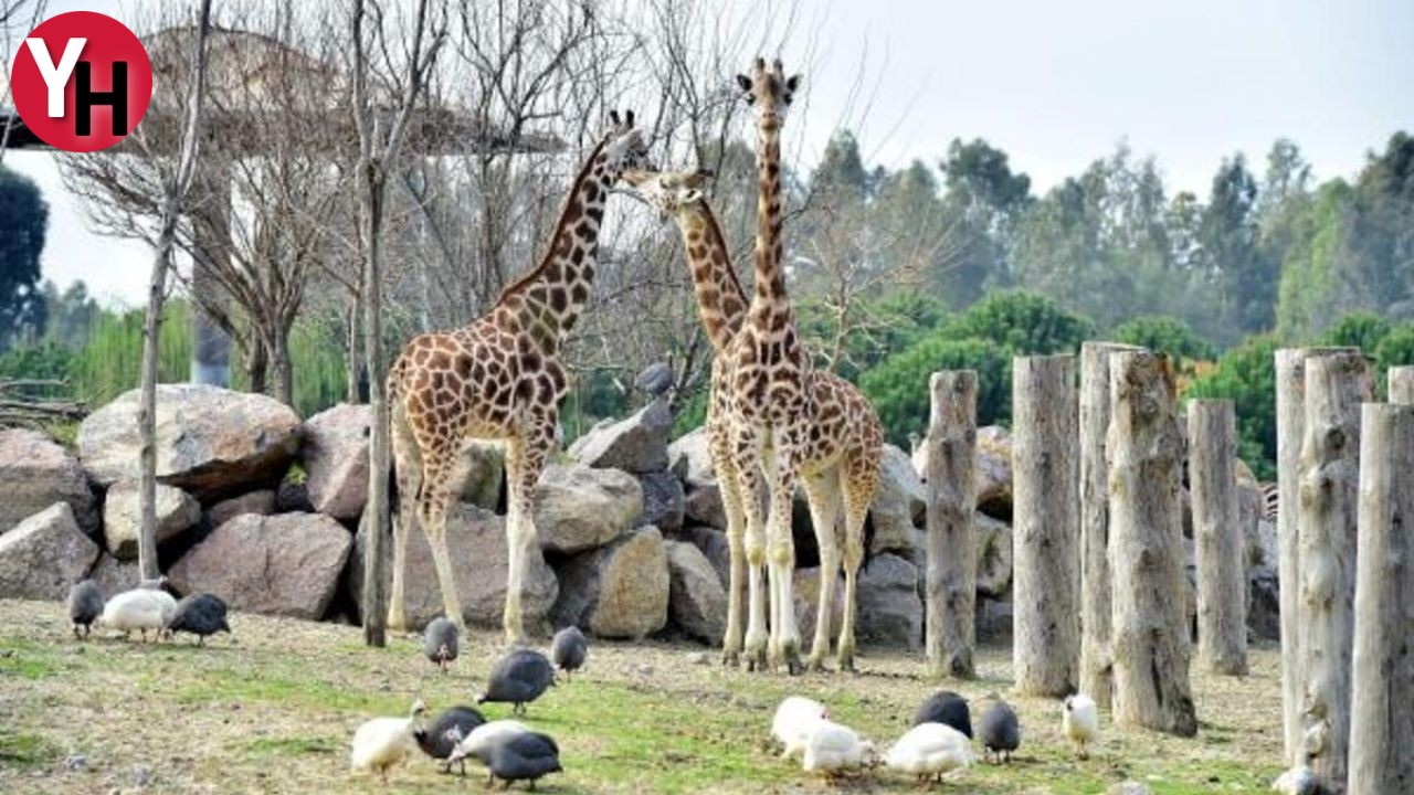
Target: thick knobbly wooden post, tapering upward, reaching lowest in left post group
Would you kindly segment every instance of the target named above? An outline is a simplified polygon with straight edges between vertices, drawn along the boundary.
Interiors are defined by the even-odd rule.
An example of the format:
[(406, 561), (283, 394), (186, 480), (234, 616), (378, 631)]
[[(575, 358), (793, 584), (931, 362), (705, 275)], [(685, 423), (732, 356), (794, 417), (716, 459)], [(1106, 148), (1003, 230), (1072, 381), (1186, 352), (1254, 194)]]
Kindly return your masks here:
[(1188, 617), (1174, 372), (1148, 351), (1110, 356), (1110, 566), (1114, 723), (1198, 733)]

